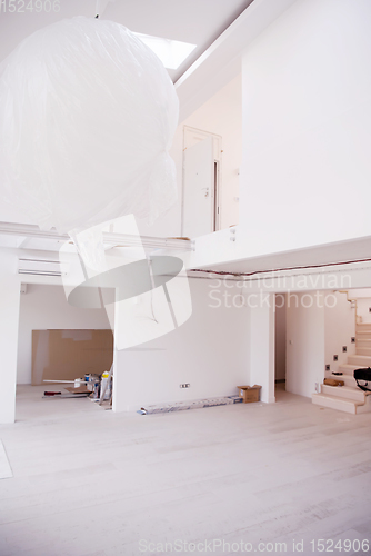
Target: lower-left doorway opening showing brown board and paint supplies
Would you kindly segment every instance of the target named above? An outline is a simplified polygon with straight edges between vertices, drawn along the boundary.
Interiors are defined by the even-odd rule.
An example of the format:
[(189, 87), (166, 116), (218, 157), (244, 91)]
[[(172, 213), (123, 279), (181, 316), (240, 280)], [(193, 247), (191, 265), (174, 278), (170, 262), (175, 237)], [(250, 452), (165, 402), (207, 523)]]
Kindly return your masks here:
[[(104, 308), (69, 305), (61, 285), (21, 285), (17, 420), (103, 410), (109, 401), (101, 407), (92, 403), (92, 379), (109, 370), (112, 359), (112, 328)], [(80, 394), (84, 389), (89, 391)]]

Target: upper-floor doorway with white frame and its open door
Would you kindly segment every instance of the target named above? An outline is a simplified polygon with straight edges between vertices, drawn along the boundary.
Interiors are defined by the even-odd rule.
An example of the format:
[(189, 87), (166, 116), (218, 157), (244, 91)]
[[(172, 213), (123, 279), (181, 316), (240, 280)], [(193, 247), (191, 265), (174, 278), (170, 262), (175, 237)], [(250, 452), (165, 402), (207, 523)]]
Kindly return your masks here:
[(221, 228), (221, 137), (184, 126), (182, 236)]

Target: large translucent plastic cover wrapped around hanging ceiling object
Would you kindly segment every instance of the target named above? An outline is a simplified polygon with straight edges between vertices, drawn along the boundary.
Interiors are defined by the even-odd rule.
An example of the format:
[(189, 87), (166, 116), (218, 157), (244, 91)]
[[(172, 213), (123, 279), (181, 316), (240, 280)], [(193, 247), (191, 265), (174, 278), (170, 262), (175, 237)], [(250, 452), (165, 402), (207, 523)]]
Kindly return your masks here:
[(0, 193), (41, 228), (87, 229), (177, 197), (178, 97), (124, 27), (78, 17), (41, 29), (0, 66)]

